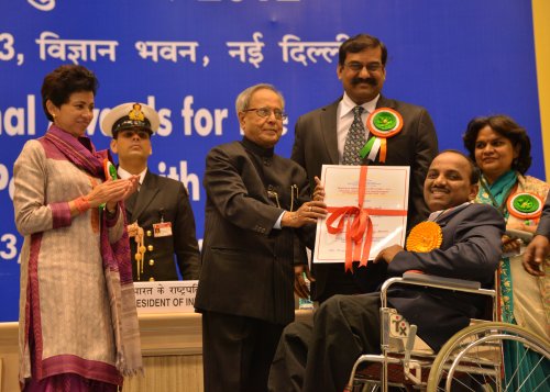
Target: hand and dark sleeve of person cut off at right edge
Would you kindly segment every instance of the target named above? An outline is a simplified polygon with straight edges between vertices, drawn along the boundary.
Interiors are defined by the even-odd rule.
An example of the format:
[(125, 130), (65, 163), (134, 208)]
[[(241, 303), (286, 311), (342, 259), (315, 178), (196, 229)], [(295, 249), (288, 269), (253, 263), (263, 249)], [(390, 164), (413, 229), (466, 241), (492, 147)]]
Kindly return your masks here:
[(524, 253), (524, 268), (527, 272), (542, 277), (544, 272), (541, 270), (544, 258), (550, 254), (550, 193), (547, 197), (544, 206), (542, 208), (542, 216), (535, 237), (527, 246)]

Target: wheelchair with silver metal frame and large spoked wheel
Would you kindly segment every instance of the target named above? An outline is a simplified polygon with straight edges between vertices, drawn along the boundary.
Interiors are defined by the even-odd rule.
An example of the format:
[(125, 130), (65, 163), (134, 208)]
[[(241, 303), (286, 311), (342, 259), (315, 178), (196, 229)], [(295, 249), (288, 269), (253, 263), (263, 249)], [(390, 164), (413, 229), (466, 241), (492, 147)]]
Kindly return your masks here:
[[(395, 284), (486, 295), (493, 304), (493, 322), (472, 321), (433, 352), (416, 335), (417, 327), (388, 307), (387, 290)], [(495, 290), (482, 289), (477, 282), (407, 272), (384, 282), (381, 300), (382, 354), (358, 358), (344, 392), (550, 391), (550, 341), (518, 325), (495, 322)], [(508, 377), (505, 363), (513, 369), (506, 372)]]

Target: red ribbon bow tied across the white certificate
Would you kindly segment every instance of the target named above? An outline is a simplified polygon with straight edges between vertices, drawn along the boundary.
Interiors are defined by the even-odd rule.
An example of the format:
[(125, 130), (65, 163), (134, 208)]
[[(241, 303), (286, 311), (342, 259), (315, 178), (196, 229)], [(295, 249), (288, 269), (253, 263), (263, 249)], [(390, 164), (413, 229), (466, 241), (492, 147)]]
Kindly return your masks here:
[[(371, 245), (373, 242), (373, 223), (371, 221), (371, 215), (407, 215), (407, 210), (363, 208), (366, 190), (366, 172), (367, 166), (361, 166), (358, 206), (328, 208), (331, 214), (327, 219), (327, 231), (330, 234), (342, 233), (345, 221), (345, 271), (352, 270), (353, 261), (360, 261), (360, 266), (366, 266), (369, 261), (369, 254), (371, 253)], [(338, 222), (338, 224), (334, 226), (333, 224), (336, 222)], [(365, 238), (363, 239), (363, 237)]]

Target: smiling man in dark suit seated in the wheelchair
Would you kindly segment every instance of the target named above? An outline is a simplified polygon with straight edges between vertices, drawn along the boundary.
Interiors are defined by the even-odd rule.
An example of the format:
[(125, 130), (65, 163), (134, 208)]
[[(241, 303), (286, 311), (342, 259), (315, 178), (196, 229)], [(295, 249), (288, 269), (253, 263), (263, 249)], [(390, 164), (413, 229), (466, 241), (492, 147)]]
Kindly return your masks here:
[[(493, 285), (505, 223), (493, 206), (470, 202), (477, 193), (477, 180), (473, 163), (460, 152), (446, 150), (433, 159), (424, 197), (432, 211), (428, 221), (437, 225), (422, 231), (420, 224), (411, 233), (440, 235), (441, 245), (424, 253), (400, 246), (382, 250), (374, 262), (387, 264), (386, 278), (416, 270)], [(479, 295), (420, 285), (391, 288), (387, 298), (435, 350), (466, 327), (470, 318), (482, 317), (486, 307)], [(317, 310), (312, 326), (288, 325), (272, 363), (270, 391), (341, 392), (355, 359), (381, 352), (380, 307), (377, 292), (336, 295)]]

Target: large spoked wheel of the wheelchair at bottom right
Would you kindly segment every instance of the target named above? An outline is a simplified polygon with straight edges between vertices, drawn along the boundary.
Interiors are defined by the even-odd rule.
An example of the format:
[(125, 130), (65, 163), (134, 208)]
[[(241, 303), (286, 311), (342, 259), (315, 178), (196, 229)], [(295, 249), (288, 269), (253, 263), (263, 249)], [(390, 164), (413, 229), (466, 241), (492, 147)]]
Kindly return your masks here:
[(550, 391), (550, 341), (514, 324), (472, 325), (441, 348), (428, 391)]

